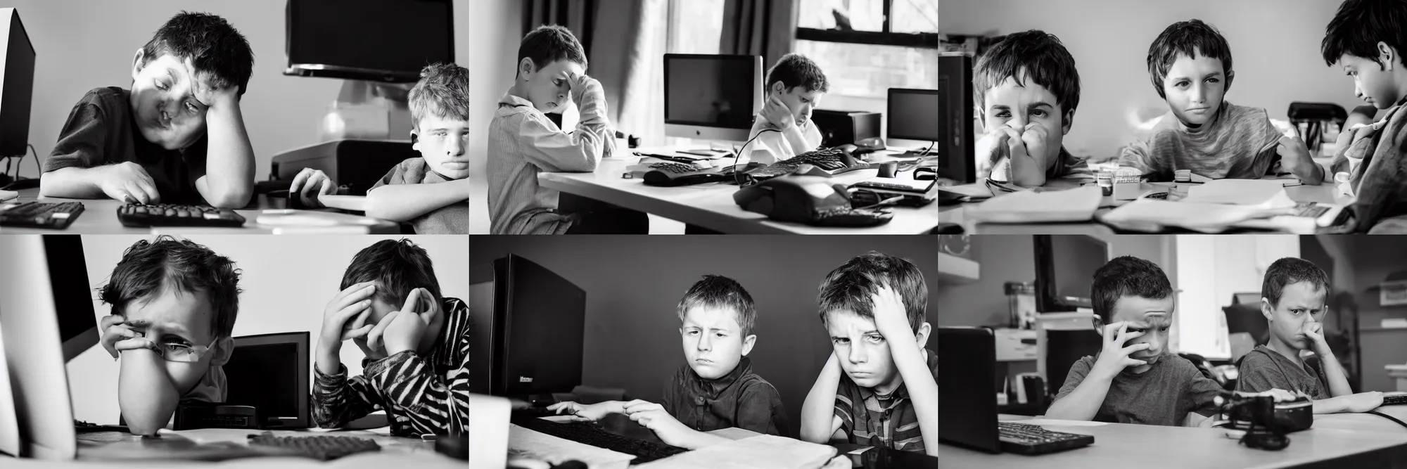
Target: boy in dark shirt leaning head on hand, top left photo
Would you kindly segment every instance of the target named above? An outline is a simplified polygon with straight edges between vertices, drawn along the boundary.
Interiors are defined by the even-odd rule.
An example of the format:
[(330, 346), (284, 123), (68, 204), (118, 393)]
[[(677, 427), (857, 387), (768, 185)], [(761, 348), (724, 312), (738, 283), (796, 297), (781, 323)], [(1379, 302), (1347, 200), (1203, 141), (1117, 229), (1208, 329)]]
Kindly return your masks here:
[(132, 88), (93, 88), (44, 160), (39, 195), (242, 208), (255, 154), (239, 98), (253, 52), (217, 15), (170, 18), (132, 58)]

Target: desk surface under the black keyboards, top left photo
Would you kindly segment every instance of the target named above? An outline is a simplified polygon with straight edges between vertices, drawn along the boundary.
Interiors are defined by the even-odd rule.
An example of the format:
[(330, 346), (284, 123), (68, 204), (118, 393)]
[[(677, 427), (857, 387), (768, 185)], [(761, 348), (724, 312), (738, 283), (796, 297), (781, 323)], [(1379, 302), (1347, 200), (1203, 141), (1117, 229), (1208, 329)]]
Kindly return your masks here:
[(255, 195), (255, 208), (252, 209), (236, 209), (241, 216), (245, 218), (245, 226), (242, 227), (127, 227), (117, 220), (117, 209), (125, 202), (114, 199), (70, 199), (70, 198), (55, 198), (55, 197), (39, 197), (38, 188), (30, 188), (20, 191), (20, 198), (11, 202), (83, 202), (83, 213), (73, 220), (63, 230), (51, 229), (34, 229), (34, 227), (0, 227), (4, 234), (151, 234), (151, 233), (225, 233), (225, 234), (280, 234), (280, 233), (390, 233), (395, 234), (401, 232), (398, 223), (388, 220), (377, 220), (373, 226), (348, 226), (329, 229), (315, 229), (315, 227), (287, 227), (287, 226), (265, 226), (255, 220), (259, 218), (259, 211), (262, 209), (276, 209), (284, 208), (280, 202), (281, 199), (274, 199), (267, 195)]

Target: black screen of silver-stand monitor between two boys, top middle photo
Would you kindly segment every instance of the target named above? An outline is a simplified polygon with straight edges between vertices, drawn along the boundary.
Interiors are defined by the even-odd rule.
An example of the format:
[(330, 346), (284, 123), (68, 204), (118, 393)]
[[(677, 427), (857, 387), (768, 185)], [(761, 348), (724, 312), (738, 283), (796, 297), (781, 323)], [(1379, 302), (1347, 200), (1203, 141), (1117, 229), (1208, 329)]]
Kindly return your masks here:
[(750, 55), (666, 55), (664, 122), (751, 129), (756, 60)]

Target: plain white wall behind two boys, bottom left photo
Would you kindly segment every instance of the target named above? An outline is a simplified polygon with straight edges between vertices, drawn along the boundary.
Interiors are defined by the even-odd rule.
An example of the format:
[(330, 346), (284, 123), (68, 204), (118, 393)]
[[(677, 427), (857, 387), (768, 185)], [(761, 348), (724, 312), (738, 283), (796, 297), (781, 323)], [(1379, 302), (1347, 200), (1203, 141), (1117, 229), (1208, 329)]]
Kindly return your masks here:
[[(113, 267), (132, 243), (149, 236), (83, 236), (83, 256), (91, 288), (107, 284)], [(400, 236), (189, 236), (187, 239), (229, 257), (243, 271), (239, 286), (239, 317), (235, 337), (250, 334), (308, 331), (317, 347), (322, 308), (338, 293), (342, 272), (357, 251), (383, 239)], [(469, 239), (463, 236), (412, 236), (435, 264), (440, 293), (469, 298)], [(94, 295), (96, 296), (96, 295)], [(94, 300), (101, 320), (110, 308)], [(314, 359), (310, 357), (310, 359)], [(362, 374), (362, 350), (343, 344), (342, 364), (355, 376)], [(311, 375), (310, 362), (310, 375)], [(68, 364), (73, 417), (115, 424), (118, 364), (93, 347)]]

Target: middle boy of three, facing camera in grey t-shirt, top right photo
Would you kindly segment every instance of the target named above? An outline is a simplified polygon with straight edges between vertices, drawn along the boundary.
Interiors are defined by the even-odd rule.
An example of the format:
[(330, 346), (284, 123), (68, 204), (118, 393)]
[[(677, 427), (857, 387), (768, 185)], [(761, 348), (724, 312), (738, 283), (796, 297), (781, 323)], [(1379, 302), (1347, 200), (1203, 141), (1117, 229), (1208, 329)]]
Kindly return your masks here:
[(1304, 184), (1318, 185), (1325, 170), (1299, 138), (1280, 135), (1265, 110), (1234, 105), (1223, 97), (1235, 79), (1231, 46), (1200, 20), (1169, 25), (1148, 46), (1148, 76), (1169, 112), (1147, 140), (1126, 146), (1119, 166), (1152, 181), (1172, 181), (1176, 170), (1209, 178), (1261, 178), (1275, 160)]

